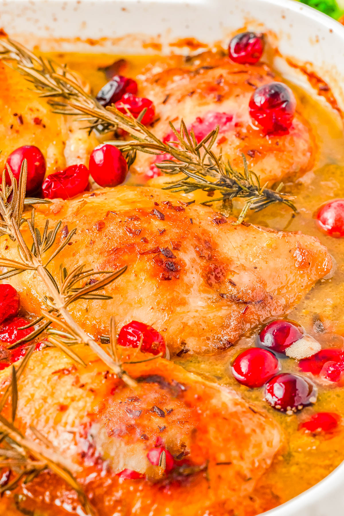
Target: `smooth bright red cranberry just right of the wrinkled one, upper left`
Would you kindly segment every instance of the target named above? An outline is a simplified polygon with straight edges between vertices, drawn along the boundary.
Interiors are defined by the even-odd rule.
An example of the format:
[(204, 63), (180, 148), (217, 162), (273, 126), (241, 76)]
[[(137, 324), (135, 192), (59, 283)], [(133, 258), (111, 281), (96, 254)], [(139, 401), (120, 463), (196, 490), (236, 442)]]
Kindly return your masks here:
[(100, 186), (117, 186), (123, 183), (128, 165), (117, 147), (106, 143), (91, 152), (90, 174)]

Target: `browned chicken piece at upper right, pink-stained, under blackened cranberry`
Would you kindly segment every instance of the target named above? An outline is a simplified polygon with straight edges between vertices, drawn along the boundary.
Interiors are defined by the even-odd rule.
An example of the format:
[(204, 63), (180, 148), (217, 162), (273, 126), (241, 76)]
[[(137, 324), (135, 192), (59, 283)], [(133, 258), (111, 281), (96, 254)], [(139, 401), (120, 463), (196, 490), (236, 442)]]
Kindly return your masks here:
[[(268, 65), (238, 65), (228, 57), (207, 52), (187, 63), (178, 57), (171, 58), (169, 66), (155, 63), (139, 80), (140, 94), (156, 106), (152, 132), (160, 139), (175, 140), (169, 122), (179, 130), (182, 118), (198, 141), (219, 125), (215, 153), (222, 148), (223, 157), (240, 170), (244, 153), (262, 184), (296, 178), (312, 167), (316, 144), (300, 103), (287, 134), (266, 136), (252, 124), (248, 109), (252, 93), (259, 86), (281, 80)], [(155, 159), (138, 155), (134, 169), (145, 178), (154, 177), (159, 173)]]

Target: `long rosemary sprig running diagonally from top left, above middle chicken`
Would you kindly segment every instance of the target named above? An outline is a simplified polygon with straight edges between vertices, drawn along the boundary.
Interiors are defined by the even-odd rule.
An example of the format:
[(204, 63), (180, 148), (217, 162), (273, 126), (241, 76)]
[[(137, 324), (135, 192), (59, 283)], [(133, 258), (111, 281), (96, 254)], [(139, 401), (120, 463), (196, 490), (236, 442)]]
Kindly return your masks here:
[[(80, 79), (64, 65), (57, 65), (53, 61), (37, 57), (24, 46), (4, 39), (1, 41), (3, 52), (0, 58), (10, 60), (12, 68), (18, 70), (34, 87), (34, 91), (48, 99), (53, 112), (62, 115), (73, 115), (78, 120), (88, 122), (92, 131), (102, 126), (103, 131), (114, 130), (117, 127), (129, 133), (130, 141), (111, 141), (124, 153), (129, 165), (136, 157), (136, 152), (161, 155), (170, 154), (173, 159), (163, 160), (156, 166), (167, 174), (183, 173), (183, 179), (176, 179), (165, 187), (174, 192), (190, 193), (195, 190), (217, 190), (222, 197), (216, 199), (231, 205), (234, 198), (245, 199), (245, 205), (236, 223), (242, 222), (249, 209), (260, 211), (273, 203), (284, 203), (293, 211), (296, 207), (292, 201), (294, 196), (282, 193), (283, 183), (275, 190), (261, 186), (258, 176), (247, 167), (243, 156), (244, 171), (235, 171), (229, 162), (224, 162), (222, 151), (216, 155), (212, 151), (219, 128), (211, 131), (202, 141), (197, 142), (193, 130), (190, 132), (182, 120), (178, 132), (170, 123), (175, 140), (162, 142), (140, 120), (123, 115), (116, 107), (104, 108), (91, 95), (87, 94)], [(204, 204), (215, 202), (205, 201)]]

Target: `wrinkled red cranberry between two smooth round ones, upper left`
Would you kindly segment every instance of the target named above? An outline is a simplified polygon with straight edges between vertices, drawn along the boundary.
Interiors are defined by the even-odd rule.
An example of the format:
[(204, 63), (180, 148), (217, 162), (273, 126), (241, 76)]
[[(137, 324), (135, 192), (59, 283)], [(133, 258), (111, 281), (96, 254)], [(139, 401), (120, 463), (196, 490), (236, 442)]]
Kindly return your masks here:
[(43, 197), (48, 199), (75, 197), (85, 191), (89, 175), (85, 165), (71, 165), (60, 172), (50, 174), (42, 184)]

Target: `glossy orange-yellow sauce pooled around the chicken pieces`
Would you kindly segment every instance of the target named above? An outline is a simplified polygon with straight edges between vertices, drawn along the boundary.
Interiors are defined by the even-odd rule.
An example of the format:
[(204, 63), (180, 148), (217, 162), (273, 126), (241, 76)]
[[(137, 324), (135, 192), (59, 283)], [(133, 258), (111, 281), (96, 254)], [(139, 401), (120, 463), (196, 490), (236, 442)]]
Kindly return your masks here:
[[(71, 68), (80, 71), (90, 81), (93, 93), (96, 93), (104, 85), (104, 73), (99, 71), (98, 68), (108, 66), (116, 60), (116, 57), (106, 55), (58, 54), (54, 57), (61, 62), (69, 62)], [(124, 74), (135, 77), (142, 67), (152, 62), (152, 60), (152, 56), (130, 57)], [(289, 314), (289, 318), (302, 324), (310, 334), (313, 334), (322, 343), (323, 347), (342, 347), (344, 343), (341, 336), (341, 334), (344, 334), (344, 313), (342, 310), (344, 240), (321, 234), (316, 227), (313, 213), (324, 201), (344, 197), (344, 167), (341, 166), (341, 164), (344, 164), (344, 137), (342, 128), (330, 110), (310, 99), (301, 90), (293, 89), (298, 93), (299, 102), (302, 104), (302, 115), (313, 128), (319, 149), (315, 156), (312, 171), (307, 172), (296, 183), (286, 185), (288, 191), (297, 195), (296, 204), (299, 214), (293, 217), (288, 208), (275, 205), (263, 212), (251, 215), (248, 220), (254, 224), (265, 225), (273, 229), (302, 231), (307, 235), (314, 235), (335, 257), (337, 268), (334, 276), (330, 280), (320, 281)], [(331, 164), (329, 165), (329, 163)], [(137, 180), (131, 179), (131, 181), (135, 183)], [(281, 414), (267, 407), (267, 404), (263, 401), (263, 389), (249, 390), (245, 386), (240, 386), (230, 372), (231, 362), (238, 351), (248, 347), (251, 343), (252, 338), (243, 338), (235, 348), (223, 351), (215, 356), (189, 358), (186, 353), (182, 355), (182, 358), (175, 361), (206, 380), (231, 386), (245, 399), (267, 410), (285, 431), (286, 440), (281, 451), (250, 495), (253, 515), (279, 505), (313, 486), (344, 460), (342, 424), (339, 425), (331, 439), (314, 437), (312, 434), (298, 431), (299, 424), (308, 419), (315, 410), (317, 412), (330, 410), (344, 418), (344, 389), (335, 385), (324, 388), (319, 384), (319, 396), (315, 407), (305, 408), (302, 412), (292, 416)], [(282, 363), (284, 372), (299, 372), (295, 361), (283, 359)], [(43, 496), (44, 489), (49, 485), (49, 481), (48, 475), (42, 478), (41, 485), (36, 485), (34, 488), (34, 490), (37, 490), (35, 495), (41, 492)], [(137, 489), (136, 486), (137, 483), (132, 481), (122, 483), (124, 495), (132, 496), (133, 490)], [(59, 487), (57, 487), (58, 489)], [(199, 489), (202, 491), (201, 486), (199, 486)], [(179, 495), (183, 496), (182, 493), (179, 493)], [(70, 498), (66, 498), (66, 508), (71, 508), (75, 503), (73, 496), (73, 494), (70, 494)], [(96, 492), (95, 496), (101, 496), (100, 492)], [(28, 504), (27, 508), (32, 509), (33, 506)], [(42, 511), (44, 514), (43, 502)], [(224, 512), (224, 514), (231, 514), (232, 516), (234, 513), (230, 511)], [(142, 513), (145, 514), (144, 511)], [(9, 516), (11, 514), (11, 512), (8, 512)], [(18, 513), (13, 512), (13, 514)], [(50, 514), (50, 512), (47, 512), (47, 514)], [(68, 512), (55, 508), (54, 514), (64, 515)], [(159, 514), (160, 516), (158, 512), (152, 514), (154, 516)], [(209, 514), (212, 516), (213, 512)], [(222, 512), (219, 508), (214, 507), (214, 516), (219, 514), (222, 514)], [(247, 514), (251, 516), (250, 512), (247, 512)]]

